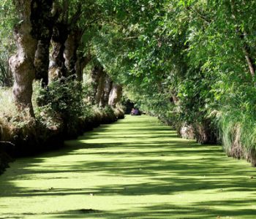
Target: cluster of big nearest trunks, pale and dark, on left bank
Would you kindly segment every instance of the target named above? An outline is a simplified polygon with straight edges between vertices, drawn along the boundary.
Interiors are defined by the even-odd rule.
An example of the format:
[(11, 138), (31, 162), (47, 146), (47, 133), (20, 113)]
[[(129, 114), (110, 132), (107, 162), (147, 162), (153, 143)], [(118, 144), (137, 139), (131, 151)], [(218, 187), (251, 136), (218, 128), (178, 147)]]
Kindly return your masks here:
[(71, 75), (81, 81), (91, 57), (77, 55), (84, 32), (75, 25), (80, 18), (80, 8), (69, 18), (68, 1), (63, 1), (62, 7), (53, 0), (16, 0), (14, 3), (20, 22), (14, 30), (17, 53), (9, 60), (14, 77), (13, 94), (18, 110), (29, 109), (34, 117), (33, 80), (41, 80), (42, 87), (48, 85), (49, 79)]

